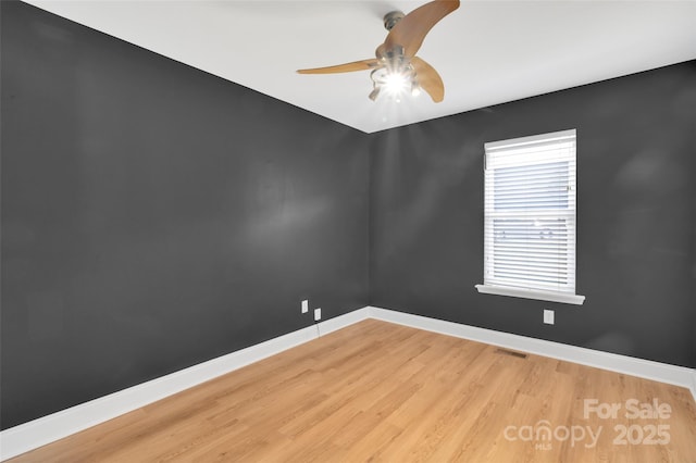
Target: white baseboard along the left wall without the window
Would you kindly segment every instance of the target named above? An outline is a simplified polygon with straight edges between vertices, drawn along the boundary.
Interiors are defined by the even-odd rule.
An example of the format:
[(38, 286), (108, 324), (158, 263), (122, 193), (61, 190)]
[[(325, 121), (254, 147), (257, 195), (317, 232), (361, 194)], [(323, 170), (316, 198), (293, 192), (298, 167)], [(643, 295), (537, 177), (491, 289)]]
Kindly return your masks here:
[(366, 317), (368, 309), (359, 309), (319, 323), (319, 329), (314, 325), (308, 326), (265, 342), (5, 429), (0, 431), (0, 460), (4, 461), (37, 449), (167, 396), (316, 339), (318, 333), (323, 336)]

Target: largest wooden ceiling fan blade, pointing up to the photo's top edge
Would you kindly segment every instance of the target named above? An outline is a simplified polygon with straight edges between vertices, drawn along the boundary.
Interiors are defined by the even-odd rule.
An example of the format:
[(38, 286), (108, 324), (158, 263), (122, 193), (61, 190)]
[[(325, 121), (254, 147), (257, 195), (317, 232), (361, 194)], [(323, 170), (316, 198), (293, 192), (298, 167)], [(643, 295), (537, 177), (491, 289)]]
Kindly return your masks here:
[(389, 30), (384, 46), (377, 48), (377, 57), (380, 50), (388, 51), (395, 46), (403, 47), (407, 57), (415, 55), (433, 26), (458, 8), (459, 0), (435, 0), (417, 8)]

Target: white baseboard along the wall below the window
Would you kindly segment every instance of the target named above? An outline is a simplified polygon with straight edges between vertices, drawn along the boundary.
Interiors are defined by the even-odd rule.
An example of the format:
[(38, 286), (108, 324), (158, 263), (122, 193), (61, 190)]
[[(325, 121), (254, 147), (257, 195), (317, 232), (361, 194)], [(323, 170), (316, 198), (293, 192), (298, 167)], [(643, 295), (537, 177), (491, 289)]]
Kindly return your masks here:
[(696, 401), (696, 370), (694, 368), (461, 325), (459, 323), (445, 322), (443, 320), (428, 318), (374, 306), (369, 306), (368, 310), (372, 318), (384, 322), (685, 387), (691, 390)]

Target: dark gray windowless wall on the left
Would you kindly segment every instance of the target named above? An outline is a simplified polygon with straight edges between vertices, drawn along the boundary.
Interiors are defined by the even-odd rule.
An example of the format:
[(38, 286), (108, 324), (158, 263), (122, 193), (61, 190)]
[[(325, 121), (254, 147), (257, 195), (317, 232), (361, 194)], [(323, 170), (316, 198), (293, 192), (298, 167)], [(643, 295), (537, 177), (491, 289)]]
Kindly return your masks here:
[(368, 304), (366, 135), (0, 3), (2, 428)]

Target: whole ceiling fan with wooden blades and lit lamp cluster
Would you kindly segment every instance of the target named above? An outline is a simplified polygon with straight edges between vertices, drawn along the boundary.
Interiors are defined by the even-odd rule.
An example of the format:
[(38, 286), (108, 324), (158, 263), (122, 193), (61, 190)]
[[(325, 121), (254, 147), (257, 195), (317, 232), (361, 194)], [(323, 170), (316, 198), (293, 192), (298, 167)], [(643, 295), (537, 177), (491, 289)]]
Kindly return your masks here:
[(434, 102), (445, 98), (445, 85), (437, 71), (415, 53), (425, 35), (443, 17), (459, 8), (459, 0), (435, 0), (409, 14), (393, 11), (384, 16), (384, 27), (389, 32), (384, 43), (375, 50), (375, 57), (334, 66), (299, 70), (300, 74), (335, 74), (370, 71), (373, 83), (369, 98), (374, 101), (381, 92), (391, 93), (397, 101), (401, 93), (418, 95), (426, 91)]

